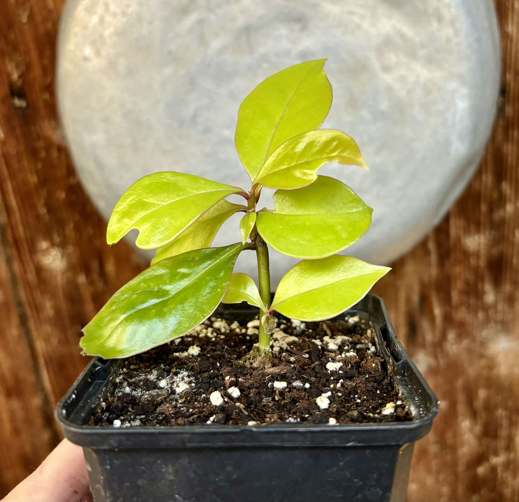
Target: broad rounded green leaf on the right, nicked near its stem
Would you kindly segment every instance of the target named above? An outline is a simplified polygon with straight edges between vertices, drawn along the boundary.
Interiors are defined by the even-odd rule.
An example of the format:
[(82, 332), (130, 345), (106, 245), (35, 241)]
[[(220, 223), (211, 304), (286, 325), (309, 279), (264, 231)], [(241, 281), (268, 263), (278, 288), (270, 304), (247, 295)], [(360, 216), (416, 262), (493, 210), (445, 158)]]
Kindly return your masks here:
[(277, 190), (275, 210), (258, 213), (256, 228), (279, 253), (323, 258), (353, 244), (371, 225), (371, 207), (329, 176), (297, 190)]

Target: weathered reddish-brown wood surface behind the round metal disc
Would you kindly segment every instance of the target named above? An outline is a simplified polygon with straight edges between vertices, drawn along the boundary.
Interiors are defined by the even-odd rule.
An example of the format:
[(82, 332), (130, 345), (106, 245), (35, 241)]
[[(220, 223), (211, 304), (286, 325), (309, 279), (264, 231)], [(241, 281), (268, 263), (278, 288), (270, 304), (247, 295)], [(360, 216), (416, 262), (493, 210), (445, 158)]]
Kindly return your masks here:
[[(60, 438), (80, 328), (142, 269), (78, 183), (54, 99), (62, 0), (0, 5), (0, 497)], [(519, 500), (519, 2), (496, 0), (503, 81), (481, 169), (376, 287), (441, 400), (412, 502)]]

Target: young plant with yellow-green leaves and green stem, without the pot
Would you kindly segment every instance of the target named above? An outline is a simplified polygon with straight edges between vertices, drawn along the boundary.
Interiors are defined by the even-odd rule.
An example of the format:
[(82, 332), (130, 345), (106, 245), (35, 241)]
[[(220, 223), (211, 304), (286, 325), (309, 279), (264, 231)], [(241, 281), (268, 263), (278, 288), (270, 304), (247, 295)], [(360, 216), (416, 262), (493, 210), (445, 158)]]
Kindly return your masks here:
[[(327, 162), (367, 169), (352, 138), (319, 129), (332, 104), (325, 61), (286, 68), (245, 97), (235, 142), (251, 178), (249, 191), (159, 172), (123, 194), (108, 221), (108, 244), (138, 229), (136, 245), (157, 254), (83, 329), (84, 354), (138, 354), (194, 329), (221, 301), (246, 301), (260, 310), (257, 362), (269, 357), (274, 311), (302, 321), (329, 319), (361, 300), (390, 270), (336, 254), (366, 232), (372, 209), (339, 180), (317, 174)], [(274, 210), (257, 211), (263, 187), (276, 189)], [(247, 204), (225, 200), (231, 194)], [(237, 212), (245, 213), (241, 241), (209, 247)], [(282, 277), (272, 302), (267, 244), (302, 259)], [(256, 252), (259, 289), (251, 276), (233, 274), (243, 250)]]

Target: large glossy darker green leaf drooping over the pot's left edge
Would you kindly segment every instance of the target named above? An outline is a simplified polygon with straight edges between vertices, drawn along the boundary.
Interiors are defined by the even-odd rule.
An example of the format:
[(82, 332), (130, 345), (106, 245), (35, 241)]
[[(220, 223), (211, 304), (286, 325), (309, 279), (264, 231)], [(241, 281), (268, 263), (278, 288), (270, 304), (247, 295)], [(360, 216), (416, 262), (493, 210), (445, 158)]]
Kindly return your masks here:
[(80, 340), (84, 353), (128, 357), (166, 343), (207, 319), (222, 300), (241, 244), (161, 260), (108, 300)]

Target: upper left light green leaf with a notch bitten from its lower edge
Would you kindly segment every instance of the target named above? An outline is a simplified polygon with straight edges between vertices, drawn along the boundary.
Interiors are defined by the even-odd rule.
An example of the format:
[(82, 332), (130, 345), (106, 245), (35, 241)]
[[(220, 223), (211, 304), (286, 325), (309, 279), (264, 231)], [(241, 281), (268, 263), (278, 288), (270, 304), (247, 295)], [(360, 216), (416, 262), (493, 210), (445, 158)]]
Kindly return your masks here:
[(161, 172), (136, 181), (117, 202), (108, 221), (106, 242), (115, 244), (136, 228), (142, 249), (165, 246), (210, 207), (241, 188), (193, 174)]

